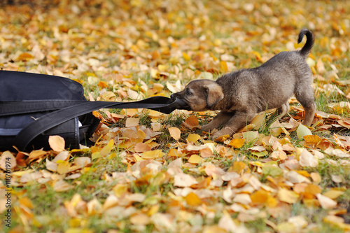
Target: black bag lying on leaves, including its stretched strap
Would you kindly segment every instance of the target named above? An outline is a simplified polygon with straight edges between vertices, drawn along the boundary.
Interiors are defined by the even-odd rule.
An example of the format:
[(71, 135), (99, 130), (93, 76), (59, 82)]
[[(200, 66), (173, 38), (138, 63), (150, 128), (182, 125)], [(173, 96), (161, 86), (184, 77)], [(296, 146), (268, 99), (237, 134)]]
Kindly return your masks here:
[(69, 78), (0, 71), (0, 151), (50, 149), (48, 137), (64, 138), (66, 148), (91, 146), (100, 108), (148, 108), (171, 113), (180, 99), (151, 97), (134, 102), (87, 101), (83, 86)]

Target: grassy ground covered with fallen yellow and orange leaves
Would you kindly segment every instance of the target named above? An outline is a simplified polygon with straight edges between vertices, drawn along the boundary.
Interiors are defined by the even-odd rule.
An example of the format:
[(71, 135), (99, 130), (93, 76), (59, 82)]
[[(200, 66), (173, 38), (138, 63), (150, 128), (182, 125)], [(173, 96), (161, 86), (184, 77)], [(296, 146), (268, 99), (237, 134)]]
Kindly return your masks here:
[(281, 120), (216, 141), (211, 112), (94, 112), (91, 148), (0, 153), (1, 231), (350, 232), (350, 1), (30, 2), (0, 8), (0, 68), (71, 78), (90, 100), (169, 97), (300, 49), (307, 27), (318, 111), (301, 125), (292, 97)]

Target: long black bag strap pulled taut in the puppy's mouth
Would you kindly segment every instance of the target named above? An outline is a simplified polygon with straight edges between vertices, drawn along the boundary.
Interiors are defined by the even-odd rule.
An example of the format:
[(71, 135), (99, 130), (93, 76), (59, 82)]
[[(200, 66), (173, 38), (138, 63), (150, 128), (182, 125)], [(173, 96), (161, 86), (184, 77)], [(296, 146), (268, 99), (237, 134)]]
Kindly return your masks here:
[(134, 102), (85, 101), (85, 103), (53, 111), (31, 122), (18, 133), (13, 144), (23, 151), (36, 136), (46, 130), (100, 108), (148, 108), (169, 114), (176, 108), (181, 109), (185, 106), (186, 103), (181, 99), (167, 97), (151, 97)]

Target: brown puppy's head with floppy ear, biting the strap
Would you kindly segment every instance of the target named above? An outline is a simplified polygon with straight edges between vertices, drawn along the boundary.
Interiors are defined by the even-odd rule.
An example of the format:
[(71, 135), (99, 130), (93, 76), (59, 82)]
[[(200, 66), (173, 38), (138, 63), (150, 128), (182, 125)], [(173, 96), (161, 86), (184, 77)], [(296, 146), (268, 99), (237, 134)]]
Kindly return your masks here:
[(223, 89), (213, 80), (193, 80), (181, 92), (172, 94), (171, 98), (179, 98), (188, 104), (190, 111), (210, 110), (223, 99)]

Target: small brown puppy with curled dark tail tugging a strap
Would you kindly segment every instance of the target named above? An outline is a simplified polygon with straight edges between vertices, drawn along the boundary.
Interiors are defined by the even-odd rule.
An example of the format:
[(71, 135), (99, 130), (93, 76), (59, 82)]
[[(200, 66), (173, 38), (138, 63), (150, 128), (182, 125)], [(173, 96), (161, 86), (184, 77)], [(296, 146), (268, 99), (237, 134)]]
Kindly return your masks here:
[(311, 87), (311, 69), (305, 59), (314, 45), (314, 35), (302, 29), (297, 42), (306, 36), (301, 50), (280, 52), (265, 64), (253, 69), (241, 69), (214, 80), (193, 80), (181, 92), (172, 94), (188, 106), (190, 111), (215, 111), (220, 113), (202, 126), (204, 132), (223, 126), (214, 138), (229, 134), (248, 125), (253, 117), (267, 109), (277, 108), (281, 118), (289, 111), (288, 99), (295, 94), (305, 111), (303, 125), (310, 126), (316, 104)]

